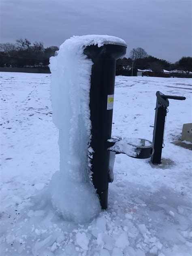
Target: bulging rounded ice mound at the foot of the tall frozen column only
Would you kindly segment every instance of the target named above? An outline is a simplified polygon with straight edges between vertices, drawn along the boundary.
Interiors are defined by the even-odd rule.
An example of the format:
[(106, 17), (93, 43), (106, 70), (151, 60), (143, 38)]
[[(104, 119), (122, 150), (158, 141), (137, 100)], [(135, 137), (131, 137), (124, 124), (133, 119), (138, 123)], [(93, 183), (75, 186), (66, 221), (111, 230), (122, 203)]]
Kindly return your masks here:
[(52, 205), (65, 220), (77, 223), (92, 220), (100, 211), (98, 197), (89, 183), (79, 183), (61, 177), (57, 171), (51, 183), (60, 182), (52, 189)]

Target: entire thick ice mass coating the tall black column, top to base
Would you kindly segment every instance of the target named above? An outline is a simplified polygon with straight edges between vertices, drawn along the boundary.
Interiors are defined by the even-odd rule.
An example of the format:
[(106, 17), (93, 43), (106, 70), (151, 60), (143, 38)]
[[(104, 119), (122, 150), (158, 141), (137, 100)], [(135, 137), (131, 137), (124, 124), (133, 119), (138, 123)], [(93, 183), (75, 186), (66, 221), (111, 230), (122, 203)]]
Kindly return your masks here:
[(53, 207), (66, 219), (87, 222), (100, 212), (91, 180), (90, 76), (88, 45), (125, 43), (114, 36), (73, 36), (50, 58), (53, 122), (59, 132), (60, 171), (49, 186)]

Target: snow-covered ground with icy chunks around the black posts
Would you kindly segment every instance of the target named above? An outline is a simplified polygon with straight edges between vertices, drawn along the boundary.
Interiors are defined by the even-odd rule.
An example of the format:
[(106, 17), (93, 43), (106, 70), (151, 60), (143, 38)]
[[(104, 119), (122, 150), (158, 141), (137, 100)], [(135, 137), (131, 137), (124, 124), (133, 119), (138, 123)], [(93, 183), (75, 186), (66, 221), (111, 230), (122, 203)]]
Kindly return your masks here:
[(187, 99), (169, 100), (163, 164), (117, 155), (108, 209), (81, 225), (53, 210), (46, 189), (59, 170), (50, 75), (0, 73), (0, 81), (2, 256), (191, 255), (192, 154), (171, 142), (191, 122), (192, 79), (116, 77), (114, 136), (151, 141), (156, 91)]

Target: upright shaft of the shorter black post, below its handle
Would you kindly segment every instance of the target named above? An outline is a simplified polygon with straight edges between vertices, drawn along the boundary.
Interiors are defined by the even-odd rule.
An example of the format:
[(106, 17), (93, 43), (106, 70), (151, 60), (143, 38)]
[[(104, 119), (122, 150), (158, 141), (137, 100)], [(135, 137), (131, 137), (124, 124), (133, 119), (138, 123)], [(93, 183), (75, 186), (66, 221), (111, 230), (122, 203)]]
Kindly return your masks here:
[(160, 164), (161, 163), (166, 109), (167, 109), (167, 107), (165, 105), (162, 105), (161, 102), (157, 98), (155, 122), (154, 122), (154, 132), (153, 132), (154, 154), (151, 156), (152, 164)]

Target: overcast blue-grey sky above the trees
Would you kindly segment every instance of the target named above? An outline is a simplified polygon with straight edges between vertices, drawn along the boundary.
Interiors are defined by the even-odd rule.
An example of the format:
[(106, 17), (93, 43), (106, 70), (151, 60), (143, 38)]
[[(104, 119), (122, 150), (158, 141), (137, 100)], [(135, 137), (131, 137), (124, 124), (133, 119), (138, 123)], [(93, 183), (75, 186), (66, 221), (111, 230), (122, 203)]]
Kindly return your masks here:
[(171, 62), (192, 55), (191, 0), (0, 0), (0, 42), (61, 45), (73, 35), (123, 38)]

